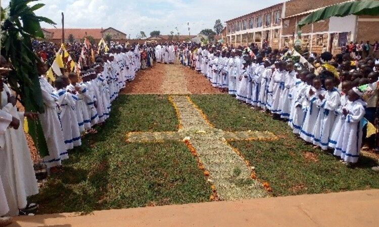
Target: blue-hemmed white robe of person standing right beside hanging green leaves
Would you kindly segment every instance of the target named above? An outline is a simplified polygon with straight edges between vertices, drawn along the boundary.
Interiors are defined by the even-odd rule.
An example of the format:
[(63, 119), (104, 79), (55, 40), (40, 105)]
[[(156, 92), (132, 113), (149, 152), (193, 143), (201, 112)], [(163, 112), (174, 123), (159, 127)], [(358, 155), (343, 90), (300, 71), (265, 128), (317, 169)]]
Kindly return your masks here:
[(53, 86), (43, 77), (39, 77), (41, 85), (44, 113), (40, 113), (39, 121), (42, 126), (43, 135), (48, 145), (49, 155), (43, 157), (43, 162), (48, 168), (61, 165), (61, 160), (68, 158), (61, 123), (58, 119), (57, 103), (52, 96)]

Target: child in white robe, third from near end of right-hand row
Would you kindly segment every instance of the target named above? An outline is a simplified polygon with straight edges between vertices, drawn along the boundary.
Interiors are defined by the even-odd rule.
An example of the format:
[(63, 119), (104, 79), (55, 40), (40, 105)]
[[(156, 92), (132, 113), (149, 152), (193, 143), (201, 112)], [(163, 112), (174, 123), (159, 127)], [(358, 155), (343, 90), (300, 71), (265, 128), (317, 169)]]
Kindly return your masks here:
[(328, 149), (331, 128), (336, 119), (335, 110), (340, 105), (340, 92), (334, 87), (334, 80), (334, 78), (325, 79), (326, 91), (324, 95), (319, 96), (320, 112), (313, 130), (313, 144), (322, 150)]

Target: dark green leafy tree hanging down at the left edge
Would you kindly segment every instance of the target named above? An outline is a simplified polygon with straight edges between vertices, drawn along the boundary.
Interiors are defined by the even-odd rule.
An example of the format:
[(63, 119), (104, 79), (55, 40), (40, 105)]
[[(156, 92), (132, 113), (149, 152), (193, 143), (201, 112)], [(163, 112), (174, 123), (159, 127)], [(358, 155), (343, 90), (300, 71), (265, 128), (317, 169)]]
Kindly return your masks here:
[[(39, 0), (37, 0), (39, 1)], [(34, 11), (44, 4), (28, 6), (35, 0), (11, 0), (9, 6), (2, 9), (2, 55), (12, 63), (13, 70), (6, 78), (12, 90), (16, 92), (18, 100), (26, 111), (44, 112), (39, 75), (36, 64), (38, 56), (33, 52), (32, 40), (43, 38), (40, 22), (55, 24), (52, 20), (39, 17)], [(41, 156), (49, 154), (38, 121), (29, 121), (29, 134), (34, 140)]]

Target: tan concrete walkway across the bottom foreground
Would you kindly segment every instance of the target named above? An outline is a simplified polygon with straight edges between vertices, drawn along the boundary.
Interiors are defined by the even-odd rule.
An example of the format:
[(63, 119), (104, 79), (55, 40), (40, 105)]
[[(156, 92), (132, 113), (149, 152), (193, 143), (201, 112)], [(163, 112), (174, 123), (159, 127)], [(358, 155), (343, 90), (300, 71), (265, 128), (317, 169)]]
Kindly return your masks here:
[(379, 190), (18, 217), (10, 226), (379, 226)]

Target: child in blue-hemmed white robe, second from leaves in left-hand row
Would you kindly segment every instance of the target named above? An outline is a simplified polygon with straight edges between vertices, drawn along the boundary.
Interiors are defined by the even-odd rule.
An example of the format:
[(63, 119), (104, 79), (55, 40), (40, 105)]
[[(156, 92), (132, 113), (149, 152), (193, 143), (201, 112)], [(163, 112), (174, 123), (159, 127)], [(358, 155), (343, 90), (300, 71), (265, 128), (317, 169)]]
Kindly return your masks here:
[(69, 85), (69, 80), (65, 76), (61, 76), (56, 79), (55, 87), (57, 91), (53, 92), (53, 97), (60, 106), (58, 111), (63, 138), (65, 139), (66, 149), (71, 150), (74, 147), (81, 145), (80, 130), (78, 120), (76, 118), (75, 99), (74, 94), (66, 91), (66, 87)]

